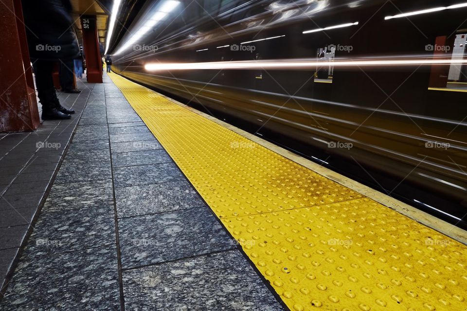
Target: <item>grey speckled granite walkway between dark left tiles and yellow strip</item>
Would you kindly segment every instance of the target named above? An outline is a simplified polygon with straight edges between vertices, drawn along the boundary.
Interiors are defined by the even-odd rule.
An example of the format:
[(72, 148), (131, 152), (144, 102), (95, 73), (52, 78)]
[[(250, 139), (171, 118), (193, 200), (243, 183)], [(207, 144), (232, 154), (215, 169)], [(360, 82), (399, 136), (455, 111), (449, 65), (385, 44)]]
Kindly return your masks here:
[(8, 311), (284, 308), (107, 76), (4, 292)]

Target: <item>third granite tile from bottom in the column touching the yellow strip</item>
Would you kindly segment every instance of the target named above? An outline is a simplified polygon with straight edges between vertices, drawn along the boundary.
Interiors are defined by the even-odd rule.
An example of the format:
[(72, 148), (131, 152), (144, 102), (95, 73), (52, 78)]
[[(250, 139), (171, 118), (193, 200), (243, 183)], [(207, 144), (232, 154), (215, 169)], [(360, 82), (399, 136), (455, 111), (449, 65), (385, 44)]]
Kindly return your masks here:
[(186, 180), (116, 188), (115, 198), (119, 218), (204, 206)]

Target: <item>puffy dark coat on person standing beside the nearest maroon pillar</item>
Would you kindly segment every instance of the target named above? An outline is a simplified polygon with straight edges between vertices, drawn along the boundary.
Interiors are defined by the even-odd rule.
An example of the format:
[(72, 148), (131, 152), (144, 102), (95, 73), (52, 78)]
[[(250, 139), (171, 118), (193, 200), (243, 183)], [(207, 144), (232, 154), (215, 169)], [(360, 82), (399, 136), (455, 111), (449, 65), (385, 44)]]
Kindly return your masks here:
[(79, 54), (69, 0), (22, 0), (31, 58), (70, 59)]

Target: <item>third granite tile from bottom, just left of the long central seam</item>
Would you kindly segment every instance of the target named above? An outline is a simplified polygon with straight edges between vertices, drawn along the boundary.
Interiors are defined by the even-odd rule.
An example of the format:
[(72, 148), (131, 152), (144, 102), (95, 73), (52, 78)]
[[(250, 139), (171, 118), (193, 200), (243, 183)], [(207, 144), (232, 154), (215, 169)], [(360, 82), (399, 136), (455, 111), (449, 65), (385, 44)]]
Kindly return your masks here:
[(113, 204), (112, 179), (57, 184), (52, 187), (42, 212)]

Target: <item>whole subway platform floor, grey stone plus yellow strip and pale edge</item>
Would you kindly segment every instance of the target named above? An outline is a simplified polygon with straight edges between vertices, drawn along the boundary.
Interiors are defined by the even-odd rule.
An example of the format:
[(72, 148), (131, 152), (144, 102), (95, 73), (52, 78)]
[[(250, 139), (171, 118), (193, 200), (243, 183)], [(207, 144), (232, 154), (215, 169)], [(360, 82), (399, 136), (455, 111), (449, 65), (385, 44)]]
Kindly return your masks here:
[(0, 139), (1, 310), (467, 310), (464, 230), (114, 73), (81, 88)]

